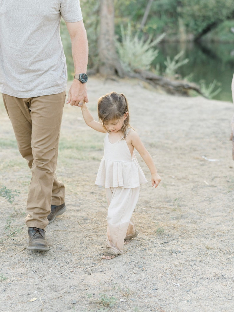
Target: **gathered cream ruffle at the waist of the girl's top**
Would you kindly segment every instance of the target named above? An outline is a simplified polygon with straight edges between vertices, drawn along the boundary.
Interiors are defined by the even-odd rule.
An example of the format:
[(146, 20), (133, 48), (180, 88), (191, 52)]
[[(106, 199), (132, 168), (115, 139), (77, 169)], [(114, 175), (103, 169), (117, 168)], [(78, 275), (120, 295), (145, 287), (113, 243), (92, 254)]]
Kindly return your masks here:
[(129, 163), (102, 158), (95, 184), (105, 188), (137, 188), (146, 182), (136, 158)]

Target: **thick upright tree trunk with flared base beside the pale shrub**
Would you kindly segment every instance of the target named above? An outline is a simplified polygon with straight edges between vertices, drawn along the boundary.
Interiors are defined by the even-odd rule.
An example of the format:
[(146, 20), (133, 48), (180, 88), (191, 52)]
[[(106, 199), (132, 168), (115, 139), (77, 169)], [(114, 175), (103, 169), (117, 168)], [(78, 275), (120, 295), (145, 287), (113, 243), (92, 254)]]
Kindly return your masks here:
[(100, 0), (99, 73), (105, 77), (123, 76), (115, 50), (114, 0)]

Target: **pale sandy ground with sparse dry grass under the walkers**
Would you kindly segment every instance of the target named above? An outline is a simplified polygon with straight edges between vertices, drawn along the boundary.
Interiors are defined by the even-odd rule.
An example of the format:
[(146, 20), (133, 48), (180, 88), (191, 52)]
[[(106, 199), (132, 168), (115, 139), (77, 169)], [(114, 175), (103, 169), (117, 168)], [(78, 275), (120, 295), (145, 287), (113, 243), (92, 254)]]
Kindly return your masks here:
[(0, 185), (13, 202), (0, 197), (0, 311), (233, 311), (233, 104), (91, 77), (95, 116), (97, 99), (114, 90), (127, 96), (131, 125), (162, 181), (157, 189), (150, 182), (141, 187), (134, 212), (139, 236), (113, 260), (101, 259), (107, 203), (104, 188), (94, 184), (104, 136), (85, 125), (80, 108), (66, 104), (57, 174), (67, 210), (46, 227), (48, 252), (26, 249), (31, 173), (1, 100)]

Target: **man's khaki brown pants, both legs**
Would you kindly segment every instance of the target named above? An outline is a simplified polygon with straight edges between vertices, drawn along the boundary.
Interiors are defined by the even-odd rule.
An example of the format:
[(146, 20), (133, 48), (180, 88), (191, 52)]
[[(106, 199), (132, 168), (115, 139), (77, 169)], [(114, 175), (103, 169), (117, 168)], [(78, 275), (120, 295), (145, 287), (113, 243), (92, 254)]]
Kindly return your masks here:
[(65, 188), (55, 169), (66, 92), (34, 98), (2, 94), (21, 155), (32, 179), (27, 198), (27, 227), (44, 229), (52, 205), (65, 201)]

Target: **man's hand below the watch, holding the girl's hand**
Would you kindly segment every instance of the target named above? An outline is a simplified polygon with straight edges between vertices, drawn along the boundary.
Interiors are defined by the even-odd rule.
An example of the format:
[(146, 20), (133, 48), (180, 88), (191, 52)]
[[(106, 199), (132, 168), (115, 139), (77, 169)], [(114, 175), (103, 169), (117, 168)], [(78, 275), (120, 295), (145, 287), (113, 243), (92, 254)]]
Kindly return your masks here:
[(86, 83), (74, 79), (68, 92), (67, 103), (74, 106), (82, 106), (83, 101), (88, 103)]

